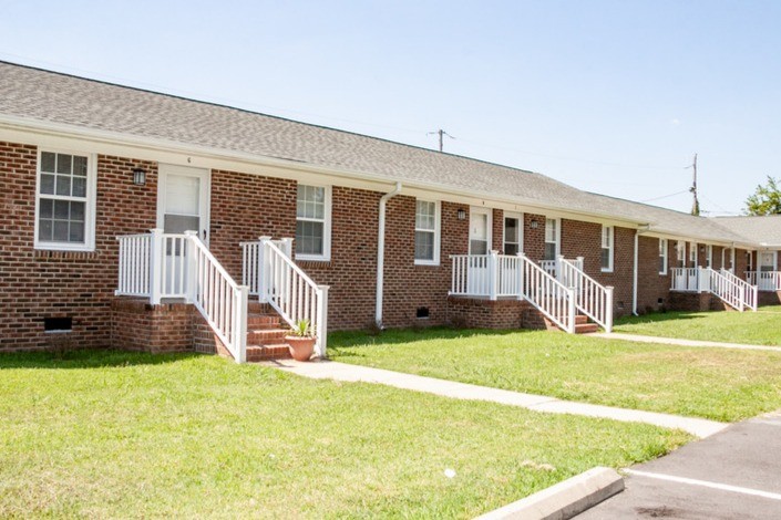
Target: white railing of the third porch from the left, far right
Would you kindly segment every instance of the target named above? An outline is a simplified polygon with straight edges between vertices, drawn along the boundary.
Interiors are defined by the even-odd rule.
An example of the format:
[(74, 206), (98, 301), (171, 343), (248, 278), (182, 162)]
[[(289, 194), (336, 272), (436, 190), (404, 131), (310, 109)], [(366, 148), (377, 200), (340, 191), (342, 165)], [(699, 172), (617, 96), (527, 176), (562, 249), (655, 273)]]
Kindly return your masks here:
[(742, 312), (747, 306), (757, 310), (757, 285), (739, 279), (726, 269), (672, 268), (670, 274), (672, 291), (710, 292), (738, 311)]

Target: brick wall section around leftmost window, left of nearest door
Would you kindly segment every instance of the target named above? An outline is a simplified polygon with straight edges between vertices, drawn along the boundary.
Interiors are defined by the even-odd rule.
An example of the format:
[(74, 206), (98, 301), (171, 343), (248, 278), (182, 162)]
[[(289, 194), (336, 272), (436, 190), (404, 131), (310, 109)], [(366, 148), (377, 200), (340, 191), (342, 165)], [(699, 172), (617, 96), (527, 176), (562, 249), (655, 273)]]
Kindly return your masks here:
[[(132, 169), (147, 170), (146, 186)], [(33, 249), (37, 148), (0, 143), (0, 349), (45, 347), (44, 318), (73, 318), (71, 343), (106, 346), (116, 289), (116, 236), (155, 225), (156, 164), (97, 157), (95, 251)]]

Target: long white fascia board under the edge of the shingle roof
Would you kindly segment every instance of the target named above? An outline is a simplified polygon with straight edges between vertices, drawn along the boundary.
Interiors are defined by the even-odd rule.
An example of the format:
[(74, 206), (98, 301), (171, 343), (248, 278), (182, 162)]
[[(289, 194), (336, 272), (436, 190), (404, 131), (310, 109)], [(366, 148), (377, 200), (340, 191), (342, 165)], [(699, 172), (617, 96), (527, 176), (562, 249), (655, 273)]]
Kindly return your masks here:
[[(171, 139), (141, 137), (119, 132), (86, 128), (70, 124), (39, 121), (28, 117), (0, 114), (0, 137), (8, 141), (32, 144), (66, 144), (73, 145), (73, 139), (84, 139), (95, 145), (95, 153), (132, 158), (182, 164), (194, 167), (228, 169), (256, 175), (268, 175), (301, 180), (307, 176), (327, 176), (333, 184), (347, 187), (359, 187), (378, 191), (388, 191), (395, 186), (398, 179), (384, 175), (350, 170), (337, 167), (319, 166), (300, 163), (292, 159), (261, 156), (226, 148), (214, 148), (188, 145)], [(83, 144), (82, 144), (83, 147)], [(320, 180), (322, 183), (322, 179)], [(551, 218), (567, 218), (572, 220), (615, 225), (636, 228), (647, 225), (640, 220), (616, 217), (598, 211), (580, 212), (566, 207), (546, 205), (538, 200), (524, 198), (496, 197), (494, 194), (453, 188), (438, 183), (404, 180), (408, 191), (435, 194), (434, 198), (471, 206), (486, 206), (511, 211), (536, 212)], [(410, 191), (412, 193), (412, 191)]]

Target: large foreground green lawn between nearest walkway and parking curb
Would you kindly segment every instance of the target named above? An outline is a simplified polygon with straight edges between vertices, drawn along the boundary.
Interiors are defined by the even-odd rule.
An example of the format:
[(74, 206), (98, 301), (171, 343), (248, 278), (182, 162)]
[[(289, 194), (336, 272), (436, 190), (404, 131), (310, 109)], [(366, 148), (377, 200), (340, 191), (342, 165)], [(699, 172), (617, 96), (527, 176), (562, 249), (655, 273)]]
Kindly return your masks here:
[(690, 439), (216, 356), (0, 354), (0, 518), (472, 518)]

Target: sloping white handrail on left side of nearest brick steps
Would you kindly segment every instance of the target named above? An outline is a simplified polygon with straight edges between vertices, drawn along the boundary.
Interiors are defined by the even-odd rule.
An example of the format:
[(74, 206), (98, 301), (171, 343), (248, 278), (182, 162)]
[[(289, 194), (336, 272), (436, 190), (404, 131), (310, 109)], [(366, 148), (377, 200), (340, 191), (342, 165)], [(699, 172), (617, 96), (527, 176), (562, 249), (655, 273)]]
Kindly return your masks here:
[(195, 231), (187, 236), (189, 300), (230, 352), (236, 363), (247, 361), (247, 295), (214, 258)]

